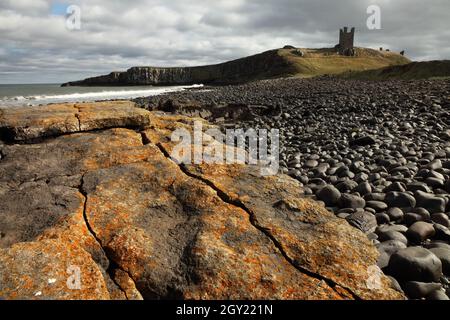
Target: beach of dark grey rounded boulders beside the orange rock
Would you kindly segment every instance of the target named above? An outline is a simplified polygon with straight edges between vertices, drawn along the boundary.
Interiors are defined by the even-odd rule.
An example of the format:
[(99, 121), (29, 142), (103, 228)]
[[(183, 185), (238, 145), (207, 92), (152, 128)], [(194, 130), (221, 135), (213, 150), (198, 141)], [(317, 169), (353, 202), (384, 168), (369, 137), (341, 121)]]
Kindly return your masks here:
[(410, 298), (448, 299), (450, 81), (280, 79), (136, 102), (279, 129), (281, 170), (302, 193), (365, 233)]

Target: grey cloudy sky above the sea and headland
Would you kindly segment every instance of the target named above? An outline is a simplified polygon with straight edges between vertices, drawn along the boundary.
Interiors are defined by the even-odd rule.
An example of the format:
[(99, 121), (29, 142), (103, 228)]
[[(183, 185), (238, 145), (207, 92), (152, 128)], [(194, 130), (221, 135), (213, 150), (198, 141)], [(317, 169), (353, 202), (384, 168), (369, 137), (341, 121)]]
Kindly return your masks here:
[[(366, 26), (381, 8), (381, 29)], [(69, 5), (81, 29), (66, 26)], [(449, 0), (0, 0), (0, 83), (65, 82), (130, 66), (217, 63), (292, 44), (356, 45), (450, 58)]]

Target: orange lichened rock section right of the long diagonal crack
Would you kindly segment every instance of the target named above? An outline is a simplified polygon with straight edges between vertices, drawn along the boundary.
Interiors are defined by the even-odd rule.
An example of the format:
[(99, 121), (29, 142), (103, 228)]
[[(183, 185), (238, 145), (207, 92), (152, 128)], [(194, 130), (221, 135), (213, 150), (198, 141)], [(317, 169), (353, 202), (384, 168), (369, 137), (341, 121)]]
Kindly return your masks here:
[[(155, 128), (144, 132), (148, 141), (170, 155), (176, 143), (170, 134), (188, 129), (186, 118), (152, 118)], [(284, 175), (261, 176), (260, 168), (244, 165), (183, 165), (185, 172), (211, 186), (221, 198), (243, 208), (254, 226), (263, 231), (290, 263), (303, 272), (327, 279), (342, 292), (363, 299), (399, 298), (381, 277), (382, 290), (372, 290), (372, 276), (378, 252), (363, 233), (342, 223), (317, 203), (301, 196), (296, 180)], [(377, 295), (378, 294), (378, 295)]]

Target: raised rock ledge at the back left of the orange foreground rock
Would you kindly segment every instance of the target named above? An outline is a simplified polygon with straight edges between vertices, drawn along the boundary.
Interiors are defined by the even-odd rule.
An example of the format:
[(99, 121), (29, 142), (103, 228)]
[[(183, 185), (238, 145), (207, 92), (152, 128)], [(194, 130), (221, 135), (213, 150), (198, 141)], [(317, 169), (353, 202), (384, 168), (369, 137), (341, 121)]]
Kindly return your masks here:
[(0, 138), (27, 141), (61, 134), (145, 127), (149, 113), (130, 101), (54, 104), (0, 109)]

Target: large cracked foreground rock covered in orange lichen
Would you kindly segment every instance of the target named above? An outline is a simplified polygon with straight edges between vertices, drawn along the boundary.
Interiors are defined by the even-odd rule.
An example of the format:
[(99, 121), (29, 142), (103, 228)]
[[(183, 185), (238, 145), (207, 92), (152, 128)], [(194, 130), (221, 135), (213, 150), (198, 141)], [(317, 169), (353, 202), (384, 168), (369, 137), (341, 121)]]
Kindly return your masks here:
[(1, 298), (403, 298), (366, 236), (295, 180), (172, 161), (192, 118), (69, 107), (0, 115)]

